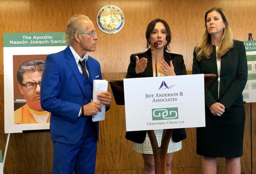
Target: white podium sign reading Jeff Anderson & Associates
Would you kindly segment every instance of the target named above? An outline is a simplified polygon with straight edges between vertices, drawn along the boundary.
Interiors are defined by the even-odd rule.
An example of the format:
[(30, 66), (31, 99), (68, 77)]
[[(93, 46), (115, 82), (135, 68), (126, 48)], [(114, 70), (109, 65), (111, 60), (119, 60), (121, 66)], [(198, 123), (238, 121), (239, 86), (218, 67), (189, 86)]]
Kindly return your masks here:
[(204, 74), (123, 81), (126, 131), (205, 127)]

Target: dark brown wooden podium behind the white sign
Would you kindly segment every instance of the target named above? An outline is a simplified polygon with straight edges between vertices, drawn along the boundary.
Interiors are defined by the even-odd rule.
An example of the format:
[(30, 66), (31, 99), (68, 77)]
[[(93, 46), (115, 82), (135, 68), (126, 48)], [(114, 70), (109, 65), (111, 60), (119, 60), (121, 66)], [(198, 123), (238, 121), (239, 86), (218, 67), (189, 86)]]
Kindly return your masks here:
[[(214, 81), (215, 74), (205, 74), (205, 89)], [(113, 96), (117, 105), (124, 105), (124, 82), (123, 79), (109, 81)], [(155, 161), (155, 174), (166, 174), (167, 150), (172, 136), (173, 129), (164, 129), (161, 146), (158, 147), (154, 130), (147, 130), (150, 139)]]

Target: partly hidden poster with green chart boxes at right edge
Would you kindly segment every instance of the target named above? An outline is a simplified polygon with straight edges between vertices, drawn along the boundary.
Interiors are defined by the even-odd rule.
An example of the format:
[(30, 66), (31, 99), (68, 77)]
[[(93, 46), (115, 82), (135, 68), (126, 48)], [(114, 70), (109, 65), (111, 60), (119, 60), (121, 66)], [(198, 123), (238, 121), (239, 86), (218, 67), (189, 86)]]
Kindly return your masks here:
[(243, 90), (246, 103), (256, 102), (256, 41), (244, 41), (246, 49), (248, 80)]

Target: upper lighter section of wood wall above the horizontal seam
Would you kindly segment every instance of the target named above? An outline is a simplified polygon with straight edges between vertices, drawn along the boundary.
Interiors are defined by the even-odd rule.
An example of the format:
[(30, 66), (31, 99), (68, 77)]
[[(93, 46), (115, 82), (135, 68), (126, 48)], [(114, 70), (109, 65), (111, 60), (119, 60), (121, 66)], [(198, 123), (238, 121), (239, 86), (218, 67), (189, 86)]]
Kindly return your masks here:
[[(124, 13), (125, 24), (116, 34), (106, 34), (96, 26), (101, 7), (116, 5)], [(155, 19), (167, 21), (172, 31), (170, 50), (184, 56), (187, 70), (192, 69), (193, 49), (205, 30), (204, 14), (211, 7), (222, 7), (228, 16), (235, 39), (247, 40), (255, 34), (254, 0), (1, 0), (0, 39), (2, 33), (64, 32), (67, 19), (74, 14), (90, 17), (98, 29), (98, 45), (90, 55), (100, 63), (102, 72), (126, 72), (132, 53), (145, 51), (147, 24)], [(3, 42), (0, 42), (3, 47)], [(3, 74), (3, 49), (0, 49), (0, 74)]]

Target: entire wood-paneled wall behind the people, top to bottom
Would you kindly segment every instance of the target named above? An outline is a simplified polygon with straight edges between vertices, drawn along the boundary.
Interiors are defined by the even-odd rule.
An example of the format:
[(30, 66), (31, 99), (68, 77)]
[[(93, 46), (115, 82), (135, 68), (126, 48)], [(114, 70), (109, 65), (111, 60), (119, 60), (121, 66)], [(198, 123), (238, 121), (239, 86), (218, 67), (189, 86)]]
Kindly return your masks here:
[[(222, 7), (229, 18), (235, 39), (247, 40), (248, 33), (256, 36), (254, 22), (256, 1), (232, 0), (0, 0), (0, 40), (3, 33), (64, 32), (67, 19), (74, 14), (85, 14), (96, 25), (101, 7), (116, 5), (122, 9), (125, 24), (116, 34), (105, 34), (97, 28), (97, 50), (89, 53), (101, 64), (103, 78), (124, 78), (132, 53), (145, 51), (147, 24), (163, 18), (172, 31), (171, 52), (184, 56), (187, 70), (192, 69), (193, 49), (205, 30), (204, 14), (211, 7)], [(111, 92), (111, 89), (109, 88)], [(246, 105), (244, 155), (242, 172), (251, 173), (250, 104)], [(256, 173), (256, 103), (252, 103), (253, 162)], [(186, 129), (188, 138), (183, 148), (174, 156), (172, 173), (200, 173), (201, 157), (196, 155), (195, 128)], [(132, 142), (124, 138), (124, 106), (112, 100), (106, 120), (100, 122), (100, 142), (96, 162), (97, 174), (143, 173), (142, 156), (133, 152)], [(0, 149), (4, 151), (7, 135), (4, 134), (3, 42), (0, 42)], [(52, 143), (45, 136), (45, 173), (51, 173)], [(42, 133), (11, 134), (5, 164), (5, 173), (40, 173)], [(225, 173), (225, 160), (218, 159), (217, 173)]]

